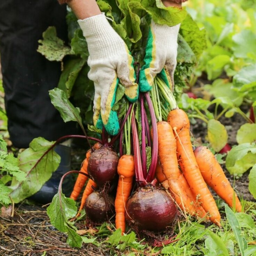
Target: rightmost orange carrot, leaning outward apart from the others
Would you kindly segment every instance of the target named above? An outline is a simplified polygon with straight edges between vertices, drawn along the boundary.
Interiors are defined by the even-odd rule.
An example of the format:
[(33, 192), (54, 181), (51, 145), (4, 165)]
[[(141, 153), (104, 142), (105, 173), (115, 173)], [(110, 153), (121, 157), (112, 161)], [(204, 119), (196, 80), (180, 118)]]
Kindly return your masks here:
[[(194, 150), (201, 174), (205, 182), (221, 197), (230, 207), (235, 204), (237, 211), (242, 211), (241, 203), (226, 178), (224, 171), (215, 159), (214, 154), (205, 146), (199, 146)], [(233, 200), (235, 199), (235, 201)]]

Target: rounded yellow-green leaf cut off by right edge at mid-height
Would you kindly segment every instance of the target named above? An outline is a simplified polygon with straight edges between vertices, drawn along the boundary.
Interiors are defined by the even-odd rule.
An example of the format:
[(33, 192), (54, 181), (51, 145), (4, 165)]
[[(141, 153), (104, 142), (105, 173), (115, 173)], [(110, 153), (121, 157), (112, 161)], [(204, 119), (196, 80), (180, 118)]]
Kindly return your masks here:
[(256, 123), (245, 123), (237, 131), (237, 142), (252, 143), (256, 142)]

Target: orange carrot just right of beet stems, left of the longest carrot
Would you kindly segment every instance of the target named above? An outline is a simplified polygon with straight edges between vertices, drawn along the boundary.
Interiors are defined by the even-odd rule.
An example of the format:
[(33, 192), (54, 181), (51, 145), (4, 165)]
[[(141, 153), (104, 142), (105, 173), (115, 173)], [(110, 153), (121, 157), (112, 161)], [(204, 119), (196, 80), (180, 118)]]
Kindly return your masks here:
[(193, 215), (196, 210), (191, 203), (192, 201), (187, 195), (184, 187), (182, 187), (179, 182), (179, 177), (182, 174), (178, 168), (176, 141), (173, 130), (167, 122), (161, 121), (157, 123), (157, 132), (158, 156), (163, 175), (166, 176), (170, 191), (174, 194), (175, 200), (179, 207)]

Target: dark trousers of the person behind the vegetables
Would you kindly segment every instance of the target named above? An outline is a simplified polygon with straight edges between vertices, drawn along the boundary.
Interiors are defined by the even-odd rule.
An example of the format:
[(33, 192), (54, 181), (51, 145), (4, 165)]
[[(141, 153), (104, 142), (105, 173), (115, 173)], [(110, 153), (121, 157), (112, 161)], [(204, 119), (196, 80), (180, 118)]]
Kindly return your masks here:
[(35, 137), (48, 140), (75, 133), (75, 123), (64, 123), (50, 102), (48, 91), (57, 86), (61, 63), (37, 52), (48, 26), (67, 41), (66, 6), (57, 0), (0, 1), (0, 58), (10, 139), (28, 147)]

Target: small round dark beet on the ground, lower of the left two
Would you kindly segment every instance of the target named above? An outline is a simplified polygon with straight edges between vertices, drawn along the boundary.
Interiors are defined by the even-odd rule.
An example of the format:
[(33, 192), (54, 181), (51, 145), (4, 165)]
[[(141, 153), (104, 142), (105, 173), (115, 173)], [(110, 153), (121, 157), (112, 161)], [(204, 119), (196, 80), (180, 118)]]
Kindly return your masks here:
[(94, 191), (86, 199), (85, 212), (93, 222), (107, 221), (115, 212), (114, 199), (107, 194)]

